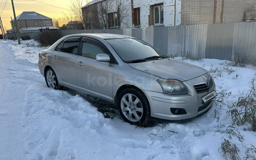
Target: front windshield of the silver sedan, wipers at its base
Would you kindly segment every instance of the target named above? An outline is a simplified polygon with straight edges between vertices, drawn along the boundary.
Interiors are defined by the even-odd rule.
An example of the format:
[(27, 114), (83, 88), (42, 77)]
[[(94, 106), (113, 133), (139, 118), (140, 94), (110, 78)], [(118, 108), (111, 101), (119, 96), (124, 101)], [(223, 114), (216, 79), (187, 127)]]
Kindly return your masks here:
[(159, 50), (140, 39), (116, 38), (107, 39), (106, 41), (113, 47), (113, 49), (125, 63), (152, 56), (165, 56)]

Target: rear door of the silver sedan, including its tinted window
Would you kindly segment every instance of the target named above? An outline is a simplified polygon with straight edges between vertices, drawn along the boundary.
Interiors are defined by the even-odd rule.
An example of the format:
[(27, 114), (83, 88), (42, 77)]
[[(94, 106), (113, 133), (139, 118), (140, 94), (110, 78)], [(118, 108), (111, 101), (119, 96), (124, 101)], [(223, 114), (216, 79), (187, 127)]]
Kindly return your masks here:
[(52, 53), (52, 62), (60, 83), (77, 88), (76, 59), (82, 37), (69, 37)]

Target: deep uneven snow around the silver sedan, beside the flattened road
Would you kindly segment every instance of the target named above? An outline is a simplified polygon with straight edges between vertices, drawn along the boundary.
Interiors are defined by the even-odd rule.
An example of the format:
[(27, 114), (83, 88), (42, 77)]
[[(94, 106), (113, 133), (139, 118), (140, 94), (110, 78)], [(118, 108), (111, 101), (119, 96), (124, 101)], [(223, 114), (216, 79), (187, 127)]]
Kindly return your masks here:
[[(34, 42), (28, 41), (34, 44)], [(4, 43), (4, 42), (0, 42)], [(10, 43), (10, 42), (8, 42)], [(26, 51), (38, 52), (41, 48), (9, 44), (17, 59), (35, 63), (37, 53), (26, 56)], [(222, 60), (203, 59), (185, 62), (203, 67), (222, 67)], [(29, 64), (24, 64), (29, 65)], [(34, 69), (34, 70), (33, 70)], [(224, 101), (237, 101), (239, 92), (246, 92), (256, 70), (232, 67), (232, 73), (223, 71), (215, 78), (217, 93), (229, 93)], [(241, 75), (238, 78), (236, 75)], [(239, 155), (245, 149), (233, 135), (225, 133), (231, 120), (226, 117), (226, 106), (214, 104), (212, 109), (189, 122), (157, 124), (140, 128), (121, 119), (104, 118), (88, 101), (67, 91), (46, 87), (36, 66), (24, 76), (34, 78), (24, 95), (23, 125), (26, 154), (31, 160), (216, 160), (224, 159), (219, 153), (222, 137), (236, 143)], [(214, 76), (214, 74), (213, 74)], [(29, 77), (28, 77), (29, 78)], [(219, 120), (216, 118), (219, 117)], [(243, 144), (256, 144), (256, 133), (244, 131)]]

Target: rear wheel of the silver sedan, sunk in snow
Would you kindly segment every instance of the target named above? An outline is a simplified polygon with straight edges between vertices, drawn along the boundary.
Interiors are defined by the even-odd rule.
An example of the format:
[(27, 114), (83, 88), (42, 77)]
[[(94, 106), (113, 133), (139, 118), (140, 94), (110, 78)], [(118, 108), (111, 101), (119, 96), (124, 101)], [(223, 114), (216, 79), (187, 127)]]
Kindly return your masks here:
[(53, 88), (55, 90), (63, 89), (63, 86), (59, 85), (57, 76), (52, 68), (46, 70), (45, 81), (49, 88)]

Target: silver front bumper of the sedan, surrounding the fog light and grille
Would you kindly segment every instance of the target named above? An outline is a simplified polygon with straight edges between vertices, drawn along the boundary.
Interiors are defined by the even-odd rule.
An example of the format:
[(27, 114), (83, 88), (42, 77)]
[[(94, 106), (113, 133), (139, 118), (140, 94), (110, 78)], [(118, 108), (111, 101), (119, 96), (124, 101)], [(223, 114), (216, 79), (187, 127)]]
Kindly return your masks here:
[[(151, 106), (152, 118), (180, 121), (196, 117), (208, 111), (211, 108), (213, 101), (210, 100), (204, 103), (202, 97), (215, 90), (215, 83), (213, 82), (213, 86), (210, 88), (209, 92), (202, 94), (198, 94), (193, 87), (193, 84), (205, 81), (205, 77), (208, 78), (207, 75), (185, 81), (184, 84), (189, 90), (188, 94), (168, 95), (152, 91), (144, 91)], [(183, 109), (186, 111), (186, 114), (172, 114), (172, 109)]]

